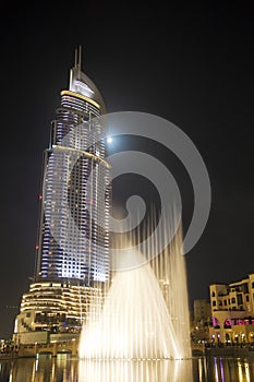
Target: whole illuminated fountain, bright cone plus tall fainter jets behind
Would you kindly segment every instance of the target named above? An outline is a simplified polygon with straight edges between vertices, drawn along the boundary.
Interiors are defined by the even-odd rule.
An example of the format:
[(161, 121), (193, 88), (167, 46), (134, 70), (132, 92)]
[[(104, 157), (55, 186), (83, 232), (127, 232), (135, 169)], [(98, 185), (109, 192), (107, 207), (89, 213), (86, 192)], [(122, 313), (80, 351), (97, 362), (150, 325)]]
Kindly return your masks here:
[[(167, 236), (167, 229), (165, 234)], [(181, 229), (153, 256), (130, 249), (118, 258), (102, 309), (84, 326), (78, 355), (85, 360), (180, 360), (191, 358), (189, 301)], [(170, 240), (169, 240), (170, 241)], [(129, 267), (125, 264), (131, 264)]]

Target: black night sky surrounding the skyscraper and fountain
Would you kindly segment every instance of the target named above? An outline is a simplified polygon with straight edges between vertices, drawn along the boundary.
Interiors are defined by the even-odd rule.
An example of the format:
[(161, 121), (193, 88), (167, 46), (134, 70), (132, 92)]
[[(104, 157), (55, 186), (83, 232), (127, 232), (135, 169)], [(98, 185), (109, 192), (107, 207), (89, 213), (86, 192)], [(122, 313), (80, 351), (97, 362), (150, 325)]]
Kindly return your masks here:
[(0, 337), (34, 272), (43, 151), (80, 44), (109, 112), (166, 118), (207, 166), (210, 216), (186, 255), (191, 303), (254, 272), (252, 2), (95, 3), (1, 5)]

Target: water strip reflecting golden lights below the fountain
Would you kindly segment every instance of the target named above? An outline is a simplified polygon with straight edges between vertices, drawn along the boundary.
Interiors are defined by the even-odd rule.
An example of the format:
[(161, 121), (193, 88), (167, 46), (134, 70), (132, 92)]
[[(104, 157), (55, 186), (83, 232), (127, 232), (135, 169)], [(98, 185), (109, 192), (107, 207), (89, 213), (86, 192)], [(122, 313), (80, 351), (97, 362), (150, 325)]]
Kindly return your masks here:
[(254, 359), (87, 362), (69, 355), (0, 360), (0, 382), (252, 382)]

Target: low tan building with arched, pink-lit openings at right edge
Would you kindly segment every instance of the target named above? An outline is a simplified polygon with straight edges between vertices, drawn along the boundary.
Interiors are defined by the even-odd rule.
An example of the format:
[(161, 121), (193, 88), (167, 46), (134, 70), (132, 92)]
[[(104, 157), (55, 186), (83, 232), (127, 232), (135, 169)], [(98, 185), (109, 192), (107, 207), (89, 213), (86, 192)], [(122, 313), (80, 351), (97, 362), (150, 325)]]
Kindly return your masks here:
[(211, 320), (209, 338), (214, 343), (254, 342), (254, 274), (231, 284), (209, 286)]

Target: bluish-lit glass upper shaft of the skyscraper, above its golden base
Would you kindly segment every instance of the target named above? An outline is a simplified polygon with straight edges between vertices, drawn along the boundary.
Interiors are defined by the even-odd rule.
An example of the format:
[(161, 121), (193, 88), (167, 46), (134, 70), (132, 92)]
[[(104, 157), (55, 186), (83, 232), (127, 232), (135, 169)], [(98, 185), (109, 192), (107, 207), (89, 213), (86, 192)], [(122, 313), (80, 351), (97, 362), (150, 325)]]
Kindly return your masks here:
[[(109, 278), (110, 166), (105, 130), (95, 119), (104, 106), (85, 80), (78, 69), (71, 70), (70, 89), (61, 92), (45, 152), (37, 280), (93, 285)], [(74, 84), (82, 93), (71, 91)]]

